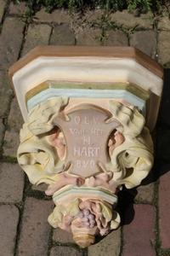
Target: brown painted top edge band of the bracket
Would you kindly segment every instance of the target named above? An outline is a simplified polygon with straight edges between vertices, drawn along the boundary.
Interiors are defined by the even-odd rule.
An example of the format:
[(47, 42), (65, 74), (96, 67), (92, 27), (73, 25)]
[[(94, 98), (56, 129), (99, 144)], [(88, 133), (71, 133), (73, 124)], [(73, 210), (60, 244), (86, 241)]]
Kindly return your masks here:
[(140, 65), (155, 73), (161, 79), (163, 78), (162, 67), (150, 56), (145, 55), (139, 49), (133, 47), (110, 47), (110, 46), (37, 46), (31, 49), (25, 56), (16, 61), (9, 67), (8, 74), (10, 78), (14, 76), (20, 68), (26, 66), (29, 62), (40, 56), (51, 57), (105, 57), (105, 58), (130, 58), (137, 61)]

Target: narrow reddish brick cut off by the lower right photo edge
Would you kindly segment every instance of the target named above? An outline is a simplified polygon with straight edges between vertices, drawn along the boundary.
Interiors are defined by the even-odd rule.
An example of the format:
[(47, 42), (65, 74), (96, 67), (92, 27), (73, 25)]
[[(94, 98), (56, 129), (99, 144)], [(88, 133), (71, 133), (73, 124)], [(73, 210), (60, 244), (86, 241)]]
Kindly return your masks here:
[(170, 172), (160, 178), (159, 185), (159, 225), (161, 236), (161, 247), (170, 248)]

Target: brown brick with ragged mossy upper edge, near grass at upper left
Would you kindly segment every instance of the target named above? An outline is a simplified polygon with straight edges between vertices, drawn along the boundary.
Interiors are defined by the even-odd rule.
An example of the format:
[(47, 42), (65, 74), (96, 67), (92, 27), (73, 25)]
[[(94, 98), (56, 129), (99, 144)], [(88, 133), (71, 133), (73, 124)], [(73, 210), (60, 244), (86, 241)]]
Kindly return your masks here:
[(41, 9), (37, 12), (35, 18), (41, 22), (56, 22), (58, 24), (71, 22), (69, 11), (64, 9), (56, 9), (51, 14), (48, 14), (45, 9)]

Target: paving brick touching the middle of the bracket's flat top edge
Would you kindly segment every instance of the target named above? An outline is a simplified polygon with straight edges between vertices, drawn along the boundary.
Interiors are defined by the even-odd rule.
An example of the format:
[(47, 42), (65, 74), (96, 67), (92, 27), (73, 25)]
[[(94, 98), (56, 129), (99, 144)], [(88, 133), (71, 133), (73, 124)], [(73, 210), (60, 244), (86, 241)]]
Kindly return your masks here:
[(85, 28), (77, 33), (77, 45), (101, 45), (101, 31), (99, 28)]

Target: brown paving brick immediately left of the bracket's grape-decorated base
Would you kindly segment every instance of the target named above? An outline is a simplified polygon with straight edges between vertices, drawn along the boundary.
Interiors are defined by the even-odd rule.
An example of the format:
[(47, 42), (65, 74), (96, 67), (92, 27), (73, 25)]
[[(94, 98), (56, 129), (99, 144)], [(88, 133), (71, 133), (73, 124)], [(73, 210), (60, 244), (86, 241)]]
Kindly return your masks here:
[(48, 215), (52, 212), (52, 201), (26, 198), (20, 242), (19, 256), (47, 256), (50, 225)]

